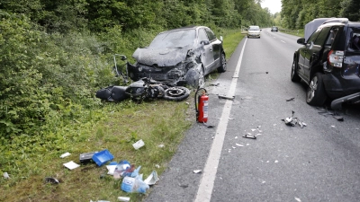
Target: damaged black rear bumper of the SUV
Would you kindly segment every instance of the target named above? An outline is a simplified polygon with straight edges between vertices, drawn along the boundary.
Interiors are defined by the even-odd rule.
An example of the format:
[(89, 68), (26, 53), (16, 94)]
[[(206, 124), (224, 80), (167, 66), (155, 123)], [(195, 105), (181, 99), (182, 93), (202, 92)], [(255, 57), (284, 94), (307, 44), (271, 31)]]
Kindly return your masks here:
[(339, 75), (322, 75), (325, 90), (331, 99), (360, 92), (360, 78), (345, 79)]

